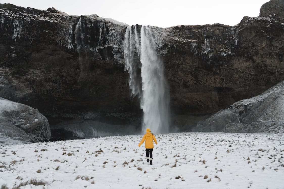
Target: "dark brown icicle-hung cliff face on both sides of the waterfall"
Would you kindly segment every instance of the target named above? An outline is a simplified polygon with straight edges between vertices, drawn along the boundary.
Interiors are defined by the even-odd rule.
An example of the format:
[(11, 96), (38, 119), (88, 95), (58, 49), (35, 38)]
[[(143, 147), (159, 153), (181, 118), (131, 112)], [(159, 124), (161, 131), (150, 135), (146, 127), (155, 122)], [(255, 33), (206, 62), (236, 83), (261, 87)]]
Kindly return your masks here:
[[(1, 97), (38, 108), (51, 124), (56, 118), (139, 124), (139, 100), (130, 97), (124, 71), (126, 24), (11, 4), (0, 4), (0, 22)], [(236, 26), (151, 30), (173, 116), (211, 114), (284, 80), (283, 0)]]

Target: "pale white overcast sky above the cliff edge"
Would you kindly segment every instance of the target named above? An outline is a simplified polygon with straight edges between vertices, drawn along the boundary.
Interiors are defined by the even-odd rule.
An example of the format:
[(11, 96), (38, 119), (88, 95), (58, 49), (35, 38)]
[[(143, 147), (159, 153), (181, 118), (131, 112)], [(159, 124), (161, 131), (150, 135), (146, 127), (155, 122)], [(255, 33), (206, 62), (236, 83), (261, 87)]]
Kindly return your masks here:
[(46, 10), (54, 7), (69, 15), (97, 14), (128, 25), (159, 27), (226, 24), (234, 26), (243, 16), (256, 17), (269, 0), (0, 0), (20, 7)]

